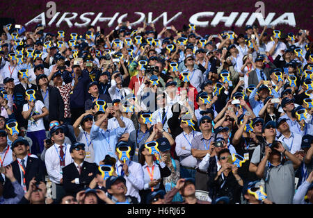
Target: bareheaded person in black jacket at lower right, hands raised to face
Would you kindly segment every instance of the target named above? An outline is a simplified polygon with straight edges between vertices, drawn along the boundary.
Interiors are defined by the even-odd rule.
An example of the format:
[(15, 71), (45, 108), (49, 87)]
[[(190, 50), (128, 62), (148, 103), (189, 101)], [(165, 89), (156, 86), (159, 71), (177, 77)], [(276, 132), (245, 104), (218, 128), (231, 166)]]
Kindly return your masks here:
[(238, 167), (228, 162), (229, 158), (231, 156), (228, 149), (223, 149), (218, 153), (220, 169), (215, 178), (210, 178), (208, 185), (215, 190), (212, 201), (221, 196), (227, 196), (230, 198), (230, 204), (240, 203), (243, 181), (237, 173)]

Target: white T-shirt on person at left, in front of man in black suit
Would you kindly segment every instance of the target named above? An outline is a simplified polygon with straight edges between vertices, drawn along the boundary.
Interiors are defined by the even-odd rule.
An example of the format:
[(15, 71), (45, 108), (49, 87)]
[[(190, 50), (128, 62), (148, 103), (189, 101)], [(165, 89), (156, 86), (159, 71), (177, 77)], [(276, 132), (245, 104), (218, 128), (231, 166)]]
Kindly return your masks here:
[[(45, 105), (40, 100), (35, 101), (35, 107), (33, 108), (33, 111), (31, 112), (31, 115), (41, 115), (42, 114), (42, 108), (44, 108)], [(23, 106), (23, 112), (29, 110), (29, 104), (25, 103)], [(31, 117), (31, 116), (30, 116)], [(43, 117), (40, 119), (37, 119), (35, 121), (29, 120), (27, 131), (29, 132), (35, 132), (45, 130), (45, 125), (43, 123)]]

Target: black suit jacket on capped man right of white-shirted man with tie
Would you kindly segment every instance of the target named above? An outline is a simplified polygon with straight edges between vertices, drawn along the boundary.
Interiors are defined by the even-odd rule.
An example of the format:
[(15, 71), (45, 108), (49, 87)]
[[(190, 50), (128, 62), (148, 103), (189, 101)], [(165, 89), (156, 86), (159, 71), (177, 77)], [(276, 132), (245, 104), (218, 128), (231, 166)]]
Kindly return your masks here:
[[(89, 183), (95, 178), (98, 166), (95, 163), (83, 162), (81, 175), (74, 162), (63, 168), (63, 187), (67, 194), (76, 196), (77, 192), (89, 186)], [(79, 178), (79, 184), (72, 183), (75, 178)]]

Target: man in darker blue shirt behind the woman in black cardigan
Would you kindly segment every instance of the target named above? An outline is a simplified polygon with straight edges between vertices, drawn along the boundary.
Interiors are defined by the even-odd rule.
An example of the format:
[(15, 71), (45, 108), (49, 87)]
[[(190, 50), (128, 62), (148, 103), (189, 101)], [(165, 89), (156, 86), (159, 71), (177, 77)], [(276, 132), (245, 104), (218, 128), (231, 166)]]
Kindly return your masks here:
[[(144, 111), (138, 112), (138, 131), (134, 130), (129, 133), (129, 138), (127, 144), (131, 146), (133, 161), (138, 162), (138, 151), (139, 148), (145, 144), (147, 138), (150, 136), (148, 125), (151, 126), (150, 122), (147, 122), (146, 119), (143, 119), (141, 115), (146, 114)], [(149, 113), (150, 114), (150, 113)]]

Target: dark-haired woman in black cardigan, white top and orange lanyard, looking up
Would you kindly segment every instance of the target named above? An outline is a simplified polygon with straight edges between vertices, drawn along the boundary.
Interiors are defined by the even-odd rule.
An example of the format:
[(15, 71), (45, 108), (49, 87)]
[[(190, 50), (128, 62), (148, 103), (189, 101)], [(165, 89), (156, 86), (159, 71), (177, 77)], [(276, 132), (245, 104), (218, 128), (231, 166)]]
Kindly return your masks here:
[(160, 157), (157, 155), (157, 159), (161, 162), (157, 163), (154, 161), (154, 155), (150, 153), (149, 149), (145, 145), (141, 146), (140, 149), (141, 156), (139, 157), (139, 162), (143, 166), (143, 178), (145, 185), (143, 190), (140, 191), (141, 203), (146, 203), (146, 196), (150, 192), (165, 190), (162, 183), (163, 177), (168, 177), (171, 174), (170, 169), (166, 166), (166, 156)]

